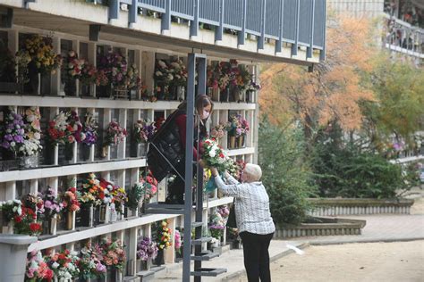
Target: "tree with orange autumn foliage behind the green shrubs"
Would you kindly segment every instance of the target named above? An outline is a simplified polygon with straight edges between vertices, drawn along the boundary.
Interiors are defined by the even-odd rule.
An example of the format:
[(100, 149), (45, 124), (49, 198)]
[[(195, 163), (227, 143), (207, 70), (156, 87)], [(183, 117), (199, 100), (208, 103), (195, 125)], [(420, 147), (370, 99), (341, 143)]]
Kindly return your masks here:
[(362, 74), (371, 70), (374, 53), (369, 27), (366, 20), (333, 20), (327, 28), (326, 61), (313, 72), (284, 63), (266, 67), (260, 77), (261, 111), (280, 126), (300, 120), (309, 140), (332, 120), (344, 130), (359, 129), (360, 101), (374, 100), (361, 84)]

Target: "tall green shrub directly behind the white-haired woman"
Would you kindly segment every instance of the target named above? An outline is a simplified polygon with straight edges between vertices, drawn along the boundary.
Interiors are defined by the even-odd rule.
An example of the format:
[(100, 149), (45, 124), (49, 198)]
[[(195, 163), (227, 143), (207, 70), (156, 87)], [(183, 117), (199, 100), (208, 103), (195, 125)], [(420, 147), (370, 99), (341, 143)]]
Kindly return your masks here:
[(310, 165), (305, 160), (301, 129), (279, 129), (267, 120), (259, 124), (259, 165), (276, 223), (300, 223), (307, 217), (313, 195)]

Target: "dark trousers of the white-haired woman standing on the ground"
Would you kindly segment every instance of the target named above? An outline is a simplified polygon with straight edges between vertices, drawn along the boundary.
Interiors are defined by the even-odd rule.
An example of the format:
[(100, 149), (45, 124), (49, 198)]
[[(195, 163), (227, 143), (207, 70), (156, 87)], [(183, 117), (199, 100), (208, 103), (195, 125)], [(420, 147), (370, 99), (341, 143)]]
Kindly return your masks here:
[(267, 235), (240, 233), (243, 244), (244, 268), (249, 282), (270, 282), (268, 247), (274, 233)]

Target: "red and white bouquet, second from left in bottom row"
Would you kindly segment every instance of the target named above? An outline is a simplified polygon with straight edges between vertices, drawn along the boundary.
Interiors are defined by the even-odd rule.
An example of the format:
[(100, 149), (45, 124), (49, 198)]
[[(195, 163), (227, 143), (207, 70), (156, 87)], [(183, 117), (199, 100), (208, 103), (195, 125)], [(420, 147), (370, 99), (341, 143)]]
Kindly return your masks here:
[(53, 270), (53, 278), (58, 281), (72, 281), (72, 279), (77, 278), (80, 274), (78, 268), (80, 258), (77, 254), (65, 249), (62, 252), (50, 255), (47, 258), (47, 265)]

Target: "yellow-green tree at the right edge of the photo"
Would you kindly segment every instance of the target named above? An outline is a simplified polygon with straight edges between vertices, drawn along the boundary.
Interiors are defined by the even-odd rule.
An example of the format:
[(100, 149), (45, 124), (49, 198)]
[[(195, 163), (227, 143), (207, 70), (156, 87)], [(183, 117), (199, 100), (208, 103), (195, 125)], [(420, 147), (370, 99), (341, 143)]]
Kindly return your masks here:
[(414, 133), (424, 129), (424, 71), (381, 54), (369, 84), (376, 101), (364, 102), (361, 108), (363, 129), (371, 144), (383, 151), (391, 137), (396, 137), (415, 145)]

